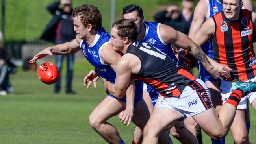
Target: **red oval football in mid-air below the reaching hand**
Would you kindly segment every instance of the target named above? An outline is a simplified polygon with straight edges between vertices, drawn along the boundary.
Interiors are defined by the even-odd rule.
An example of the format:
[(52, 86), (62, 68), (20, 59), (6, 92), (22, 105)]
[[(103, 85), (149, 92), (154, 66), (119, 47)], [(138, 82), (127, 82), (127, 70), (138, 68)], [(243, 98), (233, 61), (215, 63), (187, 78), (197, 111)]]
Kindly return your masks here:
[(43, 63), (37, 69), (37, 76), (45, 84), (54, 84), (59, 79), (59, 70), (51, 62)]

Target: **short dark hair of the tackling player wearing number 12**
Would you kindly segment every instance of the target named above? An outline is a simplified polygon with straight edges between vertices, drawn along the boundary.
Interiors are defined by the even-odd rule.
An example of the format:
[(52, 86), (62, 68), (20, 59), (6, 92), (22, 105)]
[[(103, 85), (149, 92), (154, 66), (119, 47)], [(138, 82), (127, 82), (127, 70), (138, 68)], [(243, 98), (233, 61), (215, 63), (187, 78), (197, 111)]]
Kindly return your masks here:
[(115, 26), (117, 29), (117, 35), (122, 39), (128, 37), (131, 42), (137, 40), (138, 28), (134, 20), (121, 19), (113, 23), (112, 28)]

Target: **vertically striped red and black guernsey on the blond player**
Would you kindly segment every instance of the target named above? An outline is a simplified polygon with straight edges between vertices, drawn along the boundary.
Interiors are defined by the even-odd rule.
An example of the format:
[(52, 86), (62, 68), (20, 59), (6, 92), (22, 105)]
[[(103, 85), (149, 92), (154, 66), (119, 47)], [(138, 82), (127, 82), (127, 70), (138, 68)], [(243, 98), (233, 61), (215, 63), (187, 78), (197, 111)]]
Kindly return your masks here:
[(256, 58), (252, 39), (254, 26), (252, 13), (240, 9), (238, 20), (228, 20), (221, 11), (213, 16), (215, 33), (212, 37), (212, 52), (217, 62), (232, 68), (231, 80), (246, 81), (256, 76)]

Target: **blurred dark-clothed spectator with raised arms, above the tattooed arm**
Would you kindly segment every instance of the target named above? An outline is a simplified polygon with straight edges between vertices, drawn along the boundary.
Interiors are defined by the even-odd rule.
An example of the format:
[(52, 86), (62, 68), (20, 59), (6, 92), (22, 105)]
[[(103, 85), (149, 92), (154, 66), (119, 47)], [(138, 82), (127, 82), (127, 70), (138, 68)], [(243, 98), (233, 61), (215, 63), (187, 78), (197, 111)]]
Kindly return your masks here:
[(171, 26), (177, 31), (187, 35), (189, 27), (186, 20), (182, 17), (177, 4), (172, 4), (165, 11), (161, 11), (154, 16), (156, 22)]

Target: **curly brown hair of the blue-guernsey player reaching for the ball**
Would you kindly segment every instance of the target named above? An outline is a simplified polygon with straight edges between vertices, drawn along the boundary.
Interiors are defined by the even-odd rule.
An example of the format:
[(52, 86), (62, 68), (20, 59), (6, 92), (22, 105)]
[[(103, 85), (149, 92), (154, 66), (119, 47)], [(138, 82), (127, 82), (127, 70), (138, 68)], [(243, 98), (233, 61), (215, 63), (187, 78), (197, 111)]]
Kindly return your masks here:
[(102, 26), (102, 15), (96, 6), (88, 4), (78, 6), (74, 9), (72, 16), (79, 16), (84, 27), (91, 24), (92, 28), (99, 29)]

